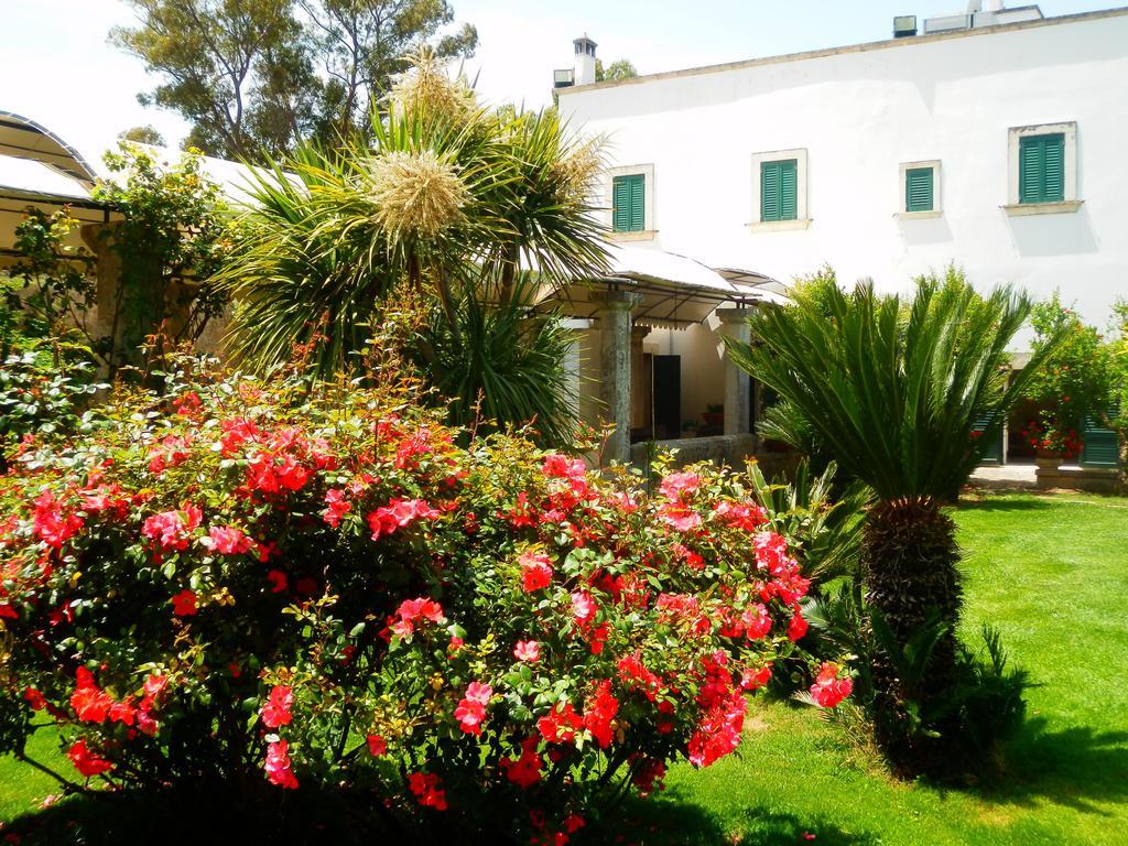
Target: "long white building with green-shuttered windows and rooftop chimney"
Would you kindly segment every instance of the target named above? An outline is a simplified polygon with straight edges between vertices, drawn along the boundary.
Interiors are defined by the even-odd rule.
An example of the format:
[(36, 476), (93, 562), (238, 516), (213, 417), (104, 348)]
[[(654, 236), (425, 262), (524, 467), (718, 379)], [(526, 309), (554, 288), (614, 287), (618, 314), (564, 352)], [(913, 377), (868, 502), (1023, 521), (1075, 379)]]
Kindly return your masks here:
[[(562, 114), (609, 141), (613, 238), (778, 280), (829, 264), (889, 291), (955, 262), (984, 289), (1060, 289), (1103, 327), (1128, 297), (1128, 8), (985, 7), (920, 35), (899, 18), (890, 41), (564, 79)], [(580, 82), (594, 44), (575, 45)], [(707, 323), (642, 341), (681, 356), (687, 415), (724, 397)]]

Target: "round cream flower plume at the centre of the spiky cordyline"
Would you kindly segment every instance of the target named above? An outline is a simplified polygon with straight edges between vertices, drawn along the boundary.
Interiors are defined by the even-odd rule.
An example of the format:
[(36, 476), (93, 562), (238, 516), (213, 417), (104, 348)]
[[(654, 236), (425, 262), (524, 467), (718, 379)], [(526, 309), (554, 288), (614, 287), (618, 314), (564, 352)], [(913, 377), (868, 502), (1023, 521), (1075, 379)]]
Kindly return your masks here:
[(370, 160), (368, 197), (380, 228), (396, 237), (431, 238), (462, 221), (469, 192), (453, 166), (431, 150), (397, 150)]

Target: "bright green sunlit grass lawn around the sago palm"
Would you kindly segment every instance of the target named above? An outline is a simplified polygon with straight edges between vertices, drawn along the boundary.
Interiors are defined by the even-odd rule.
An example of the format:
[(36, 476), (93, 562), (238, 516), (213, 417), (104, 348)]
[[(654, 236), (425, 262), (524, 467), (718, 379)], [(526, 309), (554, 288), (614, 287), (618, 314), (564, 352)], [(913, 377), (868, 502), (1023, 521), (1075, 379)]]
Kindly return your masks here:
[[(623, 841), (1128, 846), (1128, 500), (985, 494), (957, 520), (967, 633), (997, 626), (1041, 685), (1005, 783), (896, 783), (814, 711), (768, 704), (752, 712), (739, 756), (675, 768), (664, 793), (632, 809)], [(36, 743), (47, 756), (50, 739)], [(53, 790), (0, 759), (0, 819)]]

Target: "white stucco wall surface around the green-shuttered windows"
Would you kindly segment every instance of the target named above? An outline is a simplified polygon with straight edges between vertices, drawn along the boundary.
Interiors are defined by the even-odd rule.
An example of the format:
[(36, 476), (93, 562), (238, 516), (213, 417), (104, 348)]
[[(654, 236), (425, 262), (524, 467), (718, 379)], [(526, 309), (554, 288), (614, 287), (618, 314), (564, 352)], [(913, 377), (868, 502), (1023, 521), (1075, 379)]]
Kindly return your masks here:
[[(1128, 10), (561, 91), (610, 165), (653, 165), (652, 246), (787, 280), (831, 264), (885, 290), (957, 262), (982, 288), (1060, 288), (1104, 326), (1128, 297)], [(1012, 217), (1010, 130), (1075, 122), (1075, 212)], [(755, 153), (807, 149), (805, 229), (750, 229)], [(898, 220), (904, 162), (943, 213)]]

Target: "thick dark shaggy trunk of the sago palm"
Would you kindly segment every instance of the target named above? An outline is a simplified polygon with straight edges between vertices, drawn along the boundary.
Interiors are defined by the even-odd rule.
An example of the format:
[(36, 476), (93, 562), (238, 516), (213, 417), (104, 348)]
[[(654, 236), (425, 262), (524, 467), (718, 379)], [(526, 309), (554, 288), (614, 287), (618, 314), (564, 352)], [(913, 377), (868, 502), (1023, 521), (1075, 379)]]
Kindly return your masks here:
[(878, 746), (899, 775), (943, 774), (953, 760), (945, 750), (959, 742), (959, 725), (944, 717), (933, 722), (928, 715), (955, 681), (962, 605), (955, 525), (928, 497), (882, 502), (866, 517), (864, 556), (866, 602), (902, 649), (936, 615), (945, 626), (918, 678), (901, 678), (897, 662), (881, 649), (874, 649), (872, 662)]

